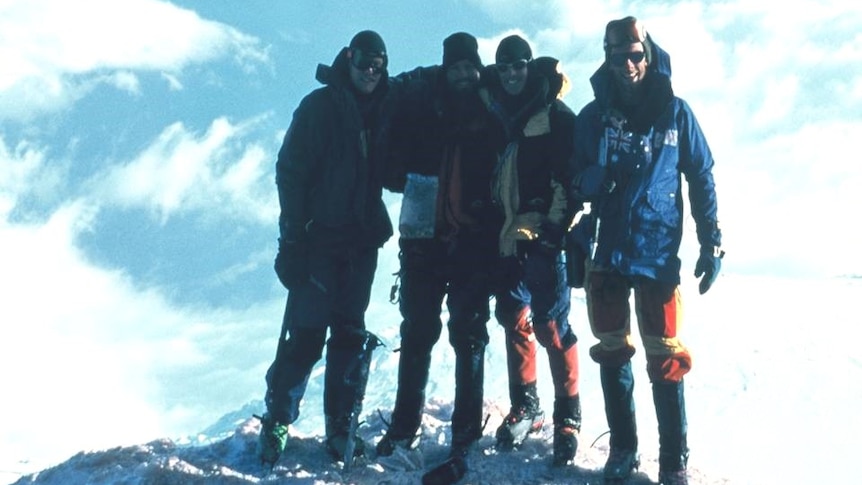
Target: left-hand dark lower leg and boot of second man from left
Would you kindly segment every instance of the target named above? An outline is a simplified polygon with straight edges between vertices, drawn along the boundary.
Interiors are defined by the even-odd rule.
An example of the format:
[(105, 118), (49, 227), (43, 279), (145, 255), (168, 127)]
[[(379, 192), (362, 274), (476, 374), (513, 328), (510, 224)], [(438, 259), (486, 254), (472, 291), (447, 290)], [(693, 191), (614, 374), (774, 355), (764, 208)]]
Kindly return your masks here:
[(377, 443), (377, 456), (391, 456), (396, 447), (410, 449), (422, 423), (425, 386), (431, 366), (430, 352), (401, 348), (398, 359), (398, 390), (389, 429)]

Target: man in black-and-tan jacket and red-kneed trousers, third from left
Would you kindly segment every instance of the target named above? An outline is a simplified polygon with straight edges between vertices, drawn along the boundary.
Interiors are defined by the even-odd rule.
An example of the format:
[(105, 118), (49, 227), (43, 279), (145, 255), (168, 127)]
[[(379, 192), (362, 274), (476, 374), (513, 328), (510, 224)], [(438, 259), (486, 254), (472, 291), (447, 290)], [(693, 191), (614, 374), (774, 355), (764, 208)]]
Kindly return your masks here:
[(565, 76), (553, 58), (532, 59), (517, 35), (500, 41), (486, 94), (505, 133), (492, 192), (504, 221), (497, 247), (503, 276), (495, 315), (506, 333), (511, 409), (497, 445), (521, 444), (544, 424), (536, 389), (536, 341), (554, 381), (553, 463), (570, 463), (581, 427), (577, 337), (569, 325), (563, 239), (575, 212), (567, 198), (575, 115), (559, 99)]

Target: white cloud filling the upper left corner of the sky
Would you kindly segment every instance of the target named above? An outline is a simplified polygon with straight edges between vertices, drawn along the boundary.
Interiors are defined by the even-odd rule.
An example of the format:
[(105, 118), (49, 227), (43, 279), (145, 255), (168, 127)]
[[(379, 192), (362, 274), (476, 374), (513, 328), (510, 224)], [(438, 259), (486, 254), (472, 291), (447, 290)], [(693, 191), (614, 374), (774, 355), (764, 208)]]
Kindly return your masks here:
[[(65, 109), (99, 73), (177, 73), (223, 57), (248, 68), (267, 56), (258, 39), (167, 2), (7, 1), (0, 4), (0, 119)], [(130, 87), (128, 73), (100, 79)]]

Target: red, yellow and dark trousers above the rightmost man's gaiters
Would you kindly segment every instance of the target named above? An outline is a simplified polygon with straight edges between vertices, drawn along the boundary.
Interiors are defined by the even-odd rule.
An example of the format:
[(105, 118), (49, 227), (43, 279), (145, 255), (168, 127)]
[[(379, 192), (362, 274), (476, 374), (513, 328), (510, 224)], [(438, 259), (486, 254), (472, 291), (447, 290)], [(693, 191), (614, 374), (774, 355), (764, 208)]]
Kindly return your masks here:
[(590, 349), (593, 360), (619, 366), (634, 355), (629, 304), (634, 290), (635, 314), (650, 381), (679, 382), (691, 370), (691, 355), (677, 336), (682, 321), (677, 285), (590, 270), (584, 289), (590, 329), (599, 339)]

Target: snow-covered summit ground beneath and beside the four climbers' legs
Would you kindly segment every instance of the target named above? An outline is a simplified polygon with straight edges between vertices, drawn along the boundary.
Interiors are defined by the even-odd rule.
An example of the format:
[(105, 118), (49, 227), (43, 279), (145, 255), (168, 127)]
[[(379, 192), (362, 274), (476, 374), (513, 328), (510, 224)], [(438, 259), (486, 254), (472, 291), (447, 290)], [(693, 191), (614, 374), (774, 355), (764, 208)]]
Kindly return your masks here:
[[(853, 477), (862, 436), (862, 421), (853, 417), (862, 402), (862, 360), (857, 351), (862, 279), (722, 275), (703, 297), (693, 283), (686, 279), (683, 287), (683, 338), (694, 352), (694, 370), (686, 378), (691, 483), (836, 483)], [(542, 436), (529, 439), (521, 450), (494, 450), (493, 432), (508, 402), (502, 332), (492, 323), (486, 378), (489, 421), (462, 483), (600, 483), (607, 435), (598, 368), (585, 357), (593, 339), (584, 319), (582, 291), (575, 290), (573, 297), (571, 320), (581, 337), (584, 401), (576, 466), (549, 466), (549, 423)], [(360, 428), (372, 447), (385, 429), (395, 389), (398, 354), (391, 349), (397, 346), (397, 326), (379, 323), (383, 317), (393, 318), (393, 311), (377, 305), (370, 311), (369, 326), (392, 344), (375, 356)], [(548, 410), (552, 389), (547, 361), (540, 358), (540, 396)], [(635, 355), (635, 362), (642, 364), (639, 359), (642, 353)], [(641, 470), (655, 480), (655, 418), (644, 366), (636, 367)], [(197, 436), (84, 451), (15, 483), (408, 484), (418, 483), (423, 470), (445, 458), (454, 389), (445, 335), (435, 350), (419, 450), (394, 459), (369, 457), (347, 475), (323, 450), (320, 370), (312, 378), (284, 457), (271, 472), (260, 466), (254, 453), (259, 424), (251, 415), (262, 410), (261, 402), (254, 401)], [(91, 426), (98, 428), (100, 423)], [(14, 466), (4, 464), (6, 469)]]

